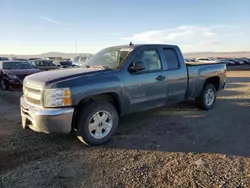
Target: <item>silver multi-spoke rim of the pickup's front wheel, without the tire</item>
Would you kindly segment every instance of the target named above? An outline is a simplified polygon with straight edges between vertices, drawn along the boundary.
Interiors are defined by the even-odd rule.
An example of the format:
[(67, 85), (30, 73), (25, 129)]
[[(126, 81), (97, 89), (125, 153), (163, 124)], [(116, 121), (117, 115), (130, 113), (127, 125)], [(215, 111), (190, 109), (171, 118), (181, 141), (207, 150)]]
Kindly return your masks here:
[(107, 136), (113, 127), (111, 114), (106, 110), (96, 112), (89, 121), (89, 133), (95, 139)]

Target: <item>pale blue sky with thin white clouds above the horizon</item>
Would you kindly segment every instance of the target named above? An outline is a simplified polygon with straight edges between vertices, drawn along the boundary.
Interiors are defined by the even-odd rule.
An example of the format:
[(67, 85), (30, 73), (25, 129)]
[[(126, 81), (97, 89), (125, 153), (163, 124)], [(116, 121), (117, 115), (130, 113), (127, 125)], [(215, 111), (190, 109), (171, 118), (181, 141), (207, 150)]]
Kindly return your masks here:
[(0, 54), (163, 43), (250, 51), (250, 0), (0, 0)]

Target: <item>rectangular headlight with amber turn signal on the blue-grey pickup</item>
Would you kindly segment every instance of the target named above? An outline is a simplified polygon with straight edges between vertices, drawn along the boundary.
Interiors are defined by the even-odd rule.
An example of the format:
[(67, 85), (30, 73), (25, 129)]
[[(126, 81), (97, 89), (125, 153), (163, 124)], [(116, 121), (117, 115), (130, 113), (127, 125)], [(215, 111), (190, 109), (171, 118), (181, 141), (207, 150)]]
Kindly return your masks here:
[(69, 88), (45, 89), (44, 90), (45, 107), (71, 106), (71, 93)]

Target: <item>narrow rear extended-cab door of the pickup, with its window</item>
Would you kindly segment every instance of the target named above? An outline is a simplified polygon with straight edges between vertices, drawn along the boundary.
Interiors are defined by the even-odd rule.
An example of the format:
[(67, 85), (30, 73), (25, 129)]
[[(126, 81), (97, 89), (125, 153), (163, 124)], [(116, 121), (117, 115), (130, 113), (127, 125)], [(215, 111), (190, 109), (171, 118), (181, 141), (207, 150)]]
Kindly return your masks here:
[(188, 74), (182, 53), (177, 46), (161, 46), (159, 51), (163, 62), (162, 75), (166, 78), (167, 104), (181, 102), (185, 100), (188, 89)]

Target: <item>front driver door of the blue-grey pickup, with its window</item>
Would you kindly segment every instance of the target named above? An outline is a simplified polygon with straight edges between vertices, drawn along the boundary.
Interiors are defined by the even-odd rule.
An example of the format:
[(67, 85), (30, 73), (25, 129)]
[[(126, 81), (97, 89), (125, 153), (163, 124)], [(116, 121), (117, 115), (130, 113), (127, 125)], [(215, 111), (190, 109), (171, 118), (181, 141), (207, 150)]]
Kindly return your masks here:
[(157, 48), (143, 48), (133, 58), (131, 65), (140, 62), (145, 69), (128, 71), (126, 94), (129, 113), (144, 111), (166, 104), (166, 88), (162, 76), (162, 60)]

